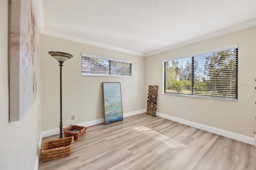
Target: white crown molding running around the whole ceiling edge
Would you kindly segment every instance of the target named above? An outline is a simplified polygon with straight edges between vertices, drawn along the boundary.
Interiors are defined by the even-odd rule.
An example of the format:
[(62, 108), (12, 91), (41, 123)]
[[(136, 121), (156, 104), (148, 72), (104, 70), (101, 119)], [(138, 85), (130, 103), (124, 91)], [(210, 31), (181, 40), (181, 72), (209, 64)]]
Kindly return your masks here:
[(158, 49), (158, 50), (155, 50), (155, 51), (151, 51), (151, 52), (148, 52), (148, 53), (142, 53), (142, 52), (138, 52), (138, 51), (132, 51), (132, 50), (129, 50), (129, 49), (120, 48), (120, 47), (117, 47), (117, 46), (114, 46), (114, 45), (109, 45), (109, 44), (105, 44), (105, 43), (101, 43), (101, 42), (96, 42), (96, 41), (93, 41), (93, 40), (88, 40), (88, 39), (85, 39), (85, 38), (80, 38), (80, 37), (71, 36), (71, 35), (68, 35), (68, 34), (63, 34), (63, 33), (52, 31), (52, 30), (47, 30), (47, 29), (45, 29), (45, 24), (44, 24), (44, 4), (43, 4), (43, 0), (34, 0), (34, 4), (35, 4), (35, 8), (36, 8), (36, 16), (37, 16), (37, 19), (38, 19), (40, 34), (53, 36), (53, 37), (57, 37), (57, 38), (63, 38), (63, 39), (66, 39), (66, 40), (85, 43), (85, 44), (94, 45), (94, 46), (98, 46), (98, 47), (103, 47), (103, 48), (106, 48), (106, 49), (112, 49), (112, 50), (115, 50), (115, 51), (129, 53), (129, 54), (138, 55), (138, 56), (142, 56), (142, 57), (148, 57), (150, 55), (162, 53), (162, 52), (165, 52), (165, 51), (169, 51), (169, 50), (172, 50), (172, 49), (176, 49), (176, 48), (179, 48), (179, 47), (190, 45), (192, 43), (201, 42), (201, 41), (204, 41), (204, 40), (208, 40), (210, 38), (215, 38), (215, 37), (218, 37), (218, 36), (222, 36), (224, 34), (229, 34), (229, 33), (232, 33), (232, 32), (236, 32), (236, 31), (239, 31), (239, 30), (243, 30), (243, 29), (246, 29), (246, 28), (256, 26), (256, 20), (250, 20), (248, 22), (244, 22), (242, 24), (238, 24), (236, 26), (232, 26), (230, 28), (226, 28), (224, 30), (220, 30), (220, 31), (217, 31), (217, 32), (214, 32), (214, 33), (211, 33), (211, 34), (207, 34), (205, 36), (194, 38), (194, 39), (188, 40), (186, 42), (174, 44), (174, 45), (171, 45), (171, 46), (168, 46), (168, 47), (165, 47), (165, 48), (162, 48), (162, 49)]

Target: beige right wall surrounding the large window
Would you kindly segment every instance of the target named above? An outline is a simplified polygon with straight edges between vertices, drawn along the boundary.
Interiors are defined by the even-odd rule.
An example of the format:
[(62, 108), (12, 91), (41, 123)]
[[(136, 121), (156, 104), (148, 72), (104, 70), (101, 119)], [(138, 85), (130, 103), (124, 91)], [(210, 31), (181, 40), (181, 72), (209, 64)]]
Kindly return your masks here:
[[(254, 137), (256, 112), (254, 91), (255, 30), (256, 28), (252, 27), (146, 57), (145, 87), (148, 85), (159, 86), (157, 112)], [(162, 94), (163, 59), (234, 44), (238, 44), (238, 102)], [(194, 112), (194, 117), (190, 117), (190, 112)]]

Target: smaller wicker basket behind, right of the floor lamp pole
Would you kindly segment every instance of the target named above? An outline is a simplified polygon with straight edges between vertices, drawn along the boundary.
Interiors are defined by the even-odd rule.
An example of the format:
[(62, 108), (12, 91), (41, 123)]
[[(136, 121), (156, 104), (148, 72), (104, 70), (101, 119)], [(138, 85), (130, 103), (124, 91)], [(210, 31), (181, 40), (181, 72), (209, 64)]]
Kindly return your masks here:
[(74, 136), (74, 140), (78, 140), (85, 136), (87, 127), (80, 127), (77, 125), (68, 125), (63, 128), (65, 137)]

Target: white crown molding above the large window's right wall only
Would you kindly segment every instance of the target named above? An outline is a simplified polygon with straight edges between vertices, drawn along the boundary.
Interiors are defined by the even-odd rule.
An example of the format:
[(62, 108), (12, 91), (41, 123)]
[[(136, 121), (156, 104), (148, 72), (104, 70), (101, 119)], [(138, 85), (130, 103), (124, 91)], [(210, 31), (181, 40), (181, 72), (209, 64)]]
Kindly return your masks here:
[(183, 47), (183, 46), (186, 46), (186, 45), (190, 45), (192, 43), (201, 42), (201, 41), (204, 41), (204, 40), (208, 40), (210, 38), (215, 38), (215, 37), (218, 37), (218, 36), (222, 36), (222, 35), (225, 35), (225, 34), (236, 32), (236, 31), (239, 31), (239, 30), (243, 30), (243, 29), (246, 29), (246, 28), (253, 27), (253, 26), (256, 26), (256, 20), (250, 20), (248, 22), (244, 22), (242, 24), (238, 24), (236, 26), (232, 26), (230, 28), (226, 28), (224, 30), (220, 30), (220, 31), (217, 31), (217, 32), (214, 32), (214, 33), (211, 33), (211, 34), (207, 34), (205, 36), (194, 38), (194, 39), (188, 40), (186, 42), (174, 44), (174, 45), (171, 45), (169, 47), (165, 47), (165, 48), (162, 48), (162, 49), (151, 51), (149, 53), (145, 53), (144, 56), (148, 57), (150, 55), (162, 53), (162, 52), (169, 51), (169, 50), (172, 50), (172, 49), (175, 49), (175, 48), (179, 48), (179, 47)]

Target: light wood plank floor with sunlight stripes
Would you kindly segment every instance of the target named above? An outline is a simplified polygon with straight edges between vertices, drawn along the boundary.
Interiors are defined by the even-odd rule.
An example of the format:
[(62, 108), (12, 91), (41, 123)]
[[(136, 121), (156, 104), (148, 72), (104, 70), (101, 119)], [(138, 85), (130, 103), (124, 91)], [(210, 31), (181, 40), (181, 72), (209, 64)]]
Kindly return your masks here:
[(253, 145), (143, 113), (88, 127), (70, 156), (38, 169), (255, 170), (256, 156)]

